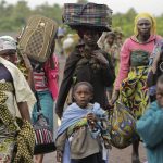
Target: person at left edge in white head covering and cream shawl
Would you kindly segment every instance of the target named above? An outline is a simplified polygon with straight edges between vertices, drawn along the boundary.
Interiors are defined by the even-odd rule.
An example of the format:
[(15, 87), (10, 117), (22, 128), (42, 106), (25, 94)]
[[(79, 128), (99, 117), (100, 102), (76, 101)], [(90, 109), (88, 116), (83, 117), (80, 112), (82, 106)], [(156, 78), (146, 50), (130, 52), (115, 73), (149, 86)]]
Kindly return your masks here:
[(0, 162), (32, 163), (35, 139), (29, 112), (36, 100), (24, 75), (11, 63), (15, 53), (14, 39), (0, 37)]

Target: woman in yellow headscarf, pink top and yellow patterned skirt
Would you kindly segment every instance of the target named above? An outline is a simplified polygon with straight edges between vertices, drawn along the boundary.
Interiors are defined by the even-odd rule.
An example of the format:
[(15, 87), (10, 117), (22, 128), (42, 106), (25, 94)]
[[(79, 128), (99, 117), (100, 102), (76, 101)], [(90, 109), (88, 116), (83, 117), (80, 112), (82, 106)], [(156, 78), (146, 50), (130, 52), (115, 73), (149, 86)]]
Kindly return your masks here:
[[(112, 99), (117, 98), (128, 106), (138, 120), (143, 114), (149, 97), (146, 80), (149, 70), (149, 58), (154, 45), (161, 39), (156, 35), (155, 20), (149, 13), (140, 13), (135, 17), (134, 36), (127, 38), (121, 49), (120, 72), (115, 82), (115, 92)], [(139, 139), (133, 142), (133, 163), (139, 163)]]

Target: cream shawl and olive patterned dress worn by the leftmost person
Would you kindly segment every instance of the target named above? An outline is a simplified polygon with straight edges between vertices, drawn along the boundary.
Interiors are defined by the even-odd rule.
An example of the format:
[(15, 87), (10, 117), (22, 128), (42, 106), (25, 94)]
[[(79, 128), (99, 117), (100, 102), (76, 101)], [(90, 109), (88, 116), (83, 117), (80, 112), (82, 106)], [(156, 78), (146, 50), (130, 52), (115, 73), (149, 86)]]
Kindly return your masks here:
[(33, 163), (34, 129), (28, 122), (18, 118), (18, 124), (16, 118), (16, 103), (33, 99), (33, 93), (23, 74), (2, 58), (0, 72), (0, 162)]

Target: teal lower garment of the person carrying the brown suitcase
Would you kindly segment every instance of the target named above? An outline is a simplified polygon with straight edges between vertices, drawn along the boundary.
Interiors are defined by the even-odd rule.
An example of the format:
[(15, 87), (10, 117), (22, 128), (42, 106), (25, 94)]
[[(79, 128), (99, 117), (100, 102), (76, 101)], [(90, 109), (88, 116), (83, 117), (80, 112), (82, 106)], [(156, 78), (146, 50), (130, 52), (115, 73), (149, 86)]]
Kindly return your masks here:
[[(50, 129), (53, 130), (53, 99), (50, 93), (50, 91), (38, 91), (38, 98), (40, 100), (41, 105), (41, 113), (48, 118)], [(33, 113), (32, 113), (32, 120), (33, 123), (37, 121), (37, 104), (34, 105)]]

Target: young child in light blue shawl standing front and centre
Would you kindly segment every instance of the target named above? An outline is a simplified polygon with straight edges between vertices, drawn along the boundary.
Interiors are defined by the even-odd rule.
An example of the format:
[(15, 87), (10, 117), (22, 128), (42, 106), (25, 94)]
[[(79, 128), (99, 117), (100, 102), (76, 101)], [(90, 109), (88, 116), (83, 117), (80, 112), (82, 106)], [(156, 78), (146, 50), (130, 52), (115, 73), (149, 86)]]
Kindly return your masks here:
[[(104, 163), (103, 149), (110, 148), (108, 114), (99, 103), (91, 104), (93, 88), (87, 82), (77, 83), (72, 103), (63, 113), (57, 136), (57, 160), (63, 163)], [(66, 139), (70, 149), (66, 151)], [(66, 143), (67, 145), (67, 143)], [(64, 147), (65, 146), (65, 147)], [(70, 160), (63, 159), (70, 152)]]

